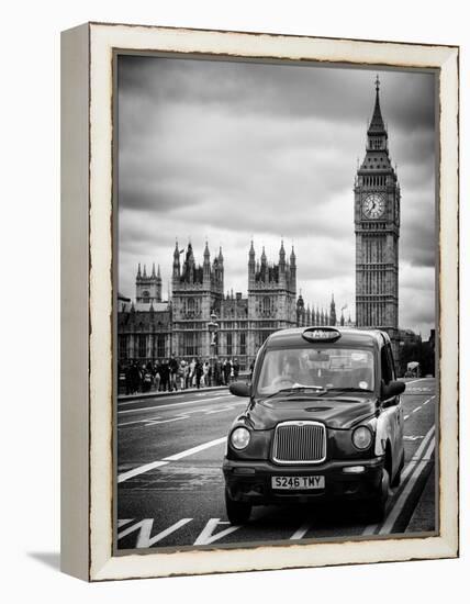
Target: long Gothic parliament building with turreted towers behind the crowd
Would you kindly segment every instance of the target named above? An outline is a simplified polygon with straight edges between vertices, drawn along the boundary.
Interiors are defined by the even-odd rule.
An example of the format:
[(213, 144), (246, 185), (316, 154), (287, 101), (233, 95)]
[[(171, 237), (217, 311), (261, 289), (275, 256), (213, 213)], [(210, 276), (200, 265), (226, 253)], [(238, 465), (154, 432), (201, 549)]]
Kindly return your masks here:
[[(181, 256), (183, 261), (181, 261)], [(161, 301), (161, 277), (155, 265), (148, 277), (141, 266), (136, 276), (135, 303), (120, 298), (118, 313), (119, 358), (139, 361), (169, 357), (210, 358), (209, 322), (214, 312), (217, 322), (215, 354), (220, 359), (237, 358), (242, 369), (249, 367), (269, 334), (286, 327), (336, 325), (335, 301), (329, 314), (305, 307), (296, 299), (296, 258), (287, 257), (283, 243), (279, 261), (268, 262), (265, 248), (259, 260), (255, 248), (248, 253), (248, 294), (224, 294), (224, 258), (222, 249), (211, 261), (205, 244), (203, 264), (197, 265), (192, 245), (174, 251), (171, 301)], [(344, 317), (342, 317), (344, 324)]]

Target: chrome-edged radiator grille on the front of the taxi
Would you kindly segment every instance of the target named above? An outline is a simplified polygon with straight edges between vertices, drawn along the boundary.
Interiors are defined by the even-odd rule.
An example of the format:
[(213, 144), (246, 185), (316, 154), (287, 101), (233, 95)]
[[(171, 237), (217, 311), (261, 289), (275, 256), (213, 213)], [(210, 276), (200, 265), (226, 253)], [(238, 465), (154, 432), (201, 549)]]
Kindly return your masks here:
[(320, 463), (326, 458), (326, 429), (317, 422), (282, 422), (275, 432), (277, 463)]

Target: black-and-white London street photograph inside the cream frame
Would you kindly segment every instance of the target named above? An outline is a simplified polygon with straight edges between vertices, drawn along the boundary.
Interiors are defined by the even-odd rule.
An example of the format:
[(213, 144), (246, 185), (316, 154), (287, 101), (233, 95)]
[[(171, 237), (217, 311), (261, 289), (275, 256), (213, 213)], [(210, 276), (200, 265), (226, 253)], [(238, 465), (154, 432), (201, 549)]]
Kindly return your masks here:
[(436, 71), (114, 72), (115, 552), (435, 535)]

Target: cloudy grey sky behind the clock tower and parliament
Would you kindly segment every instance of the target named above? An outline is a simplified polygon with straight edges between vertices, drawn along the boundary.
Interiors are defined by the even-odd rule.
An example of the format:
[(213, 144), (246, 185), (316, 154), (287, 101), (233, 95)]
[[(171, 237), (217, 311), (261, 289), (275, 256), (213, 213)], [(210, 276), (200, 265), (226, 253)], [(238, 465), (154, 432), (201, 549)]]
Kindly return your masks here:
[[(355, 318), (354, 177), (377, 71), (121, 56), (119, 289), (137, 262), (161, 267), (176, 238), (202, 264), (222, 245), (225, 290), (247, 291), (251, 237), (298, 257), (305, 302)], [(382, 115), (402, 190), (400, 326), (435, 322), (435, 100), (430, 74), (379, 71)]]

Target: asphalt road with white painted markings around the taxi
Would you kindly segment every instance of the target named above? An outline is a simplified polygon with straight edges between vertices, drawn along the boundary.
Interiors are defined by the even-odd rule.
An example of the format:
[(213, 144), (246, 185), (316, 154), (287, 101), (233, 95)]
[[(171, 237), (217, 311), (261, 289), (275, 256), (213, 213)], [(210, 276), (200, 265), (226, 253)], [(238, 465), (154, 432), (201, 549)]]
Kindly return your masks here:
[[(402, 394), (405, 469), (388, 515), (370, 524), (360, 506), (254, 507), (246, 526), (225, 514), (221, 470), (227, 430), (246, 399), (227, 390), (178, 392), (118, 402), (118, 549), (220, 546), (259, 541), (403, 534), (435, 471), (434, 378), (409, 380)], [(433, 477), (430, 477), (433, 478)], [(424, 500), (423, 500), (424, 501)], [(435, 530), (426, 497), (414, 530)]]

